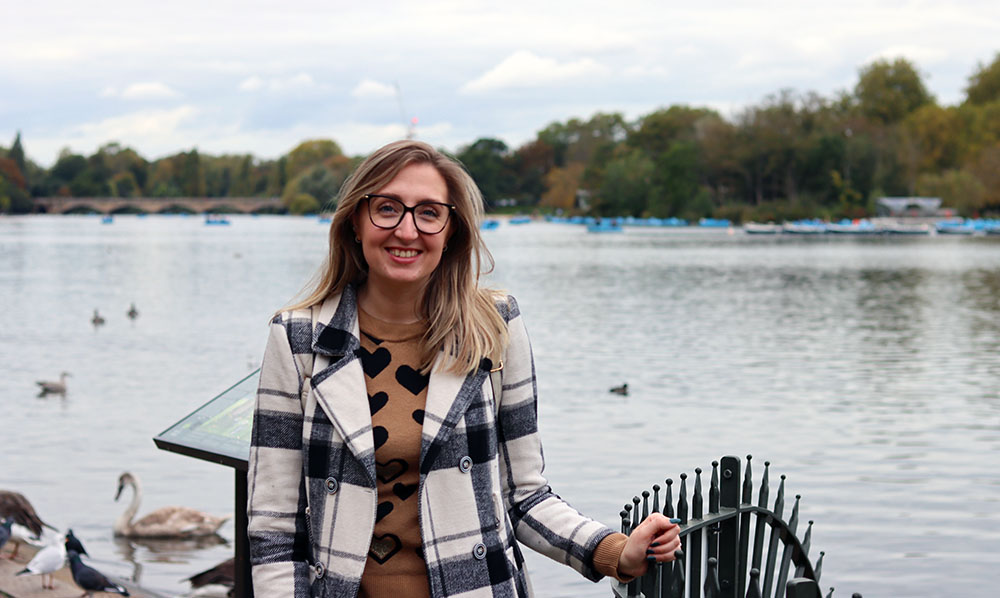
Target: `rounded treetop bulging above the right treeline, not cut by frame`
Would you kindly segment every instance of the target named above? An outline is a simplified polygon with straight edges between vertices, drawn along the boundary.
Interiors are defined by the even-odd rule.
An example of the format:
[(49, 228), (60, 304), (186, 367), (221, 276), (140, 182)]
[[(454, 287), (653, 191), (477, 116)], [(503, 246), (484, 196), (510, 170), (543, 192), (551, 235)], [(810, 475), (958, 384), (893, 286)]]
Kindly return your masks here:
[(876, 60), (862, 67), (854, 95), (862, 114), (884, 124), (899, 122), (917, 108), (934, 101), (920, 73), (905, 58), (897, 58), (891, 63)]

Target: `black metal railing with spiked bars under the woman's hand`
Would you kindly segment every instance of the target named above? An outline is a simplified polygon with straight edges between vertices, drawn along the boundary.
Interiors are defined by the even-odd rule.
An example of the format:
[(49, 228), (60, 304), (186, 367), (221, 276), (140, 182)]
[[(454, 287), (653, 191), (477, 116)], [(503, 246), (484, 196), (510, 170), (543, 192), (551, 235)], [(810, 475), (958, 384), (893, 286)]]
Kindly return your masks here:
[[(674, 482), (670, 478), (662, 489), (662, 509), (658, 484), (653, 485), (652, 493), (644, 490), (641, 499), (635, 496), (632, 504), (625, 505), (621, 512), (622, 533), (630, 534), (650, 513), (663, 513), (681, 520), (684, 549), (677, 552), (673, 563), (659, 563), (628, 584), (612, 582), (616, 598), (779, 598), (783, 589), (786, 597), (822, 598), (819, 579), (824, 553), (820, 552), (815, 566), (809, 560), (813, 522), (809, 522), (801, 541), (796, 535), (801, 496), (795, 496), (786, 522), (782, 475), (773, 506), (768, 508), (770, 463), (765, 462), (754, 505), (751, 460), (747, 455), (742, 488), (739, 458), (723, 457), (721, 465), (712, 462), (707, 513), (701, 468), (695, 469), (690, 503), (688, 476), (680, 475), (676, 510)], [(830, 588), (827, 598), (832, 595)]]

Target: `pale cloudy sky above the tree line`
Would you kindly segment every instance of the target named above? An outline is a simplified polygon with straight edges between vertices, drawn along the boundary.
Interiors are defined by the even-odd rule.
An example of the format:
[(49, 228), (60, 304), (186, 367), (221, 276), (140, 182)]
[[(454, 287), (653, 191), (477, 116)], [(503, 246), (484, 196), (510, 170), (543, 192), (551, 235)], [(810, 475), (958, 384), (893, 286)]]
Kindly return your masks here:
[(1000, 52), (1000, 2), (35, 0), (0, 6), (0, 145), (51, 166), (116, 141), (277, 158), (414, 133), (516, 148), (553, 122), (674, 104), (732, 118), (834, 97), (903, 57), (943, 105)]

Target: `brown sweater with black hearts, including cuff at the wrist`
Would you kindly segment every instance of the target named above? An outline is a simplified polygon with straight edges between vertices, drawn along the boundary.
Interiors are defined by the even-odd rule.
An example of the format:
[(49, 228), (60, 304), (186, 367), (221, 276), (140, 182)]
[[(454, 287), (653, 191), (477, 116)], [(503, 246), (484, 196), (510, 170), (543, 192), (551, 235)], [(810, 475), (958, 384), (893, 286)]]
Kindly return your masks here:
[[(419, 373), (425, 322), (393, 324), (358, 310), (361, 365), (375, 437), (378, 510), (359, 598), (429, 598), (421, 549), (417, 488), (427, 376)], [(612, 534), (594, 552), (594, 566), (617, 576), (626, 537)]]

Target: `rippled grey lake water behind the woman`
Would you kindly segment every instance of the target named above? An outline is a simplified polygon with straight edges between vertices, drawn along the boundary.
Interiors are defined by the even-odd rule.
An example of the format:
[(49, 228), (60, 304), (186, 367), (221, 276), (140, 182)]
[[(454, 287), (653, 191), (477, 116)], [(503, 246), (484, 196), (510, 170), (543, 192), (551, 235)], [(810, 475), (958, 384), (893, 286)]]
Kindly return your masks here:
[[(232, 545), (113, 540), (117, 477), (142, 478), (140, 515), (232, 511), (231, 470), (152, 437), (256, 367), (325, 252), (312, 219), (232, 222), (0, 218), (0, 488), (168, 594)], [(578, 509), (615, 527), (653, 483), (752, 453), (757, 479), (767, 459), (802, 494), (837, 596), (993, 595), (1000, 239), (484, 234), (532, 337), (546, 473)], [(63, 370), (66, 398), (36, 398)], [(630, 396), (608, 393), (622, 382)], [(539, 596), (610, 593), (526, 556)]]

